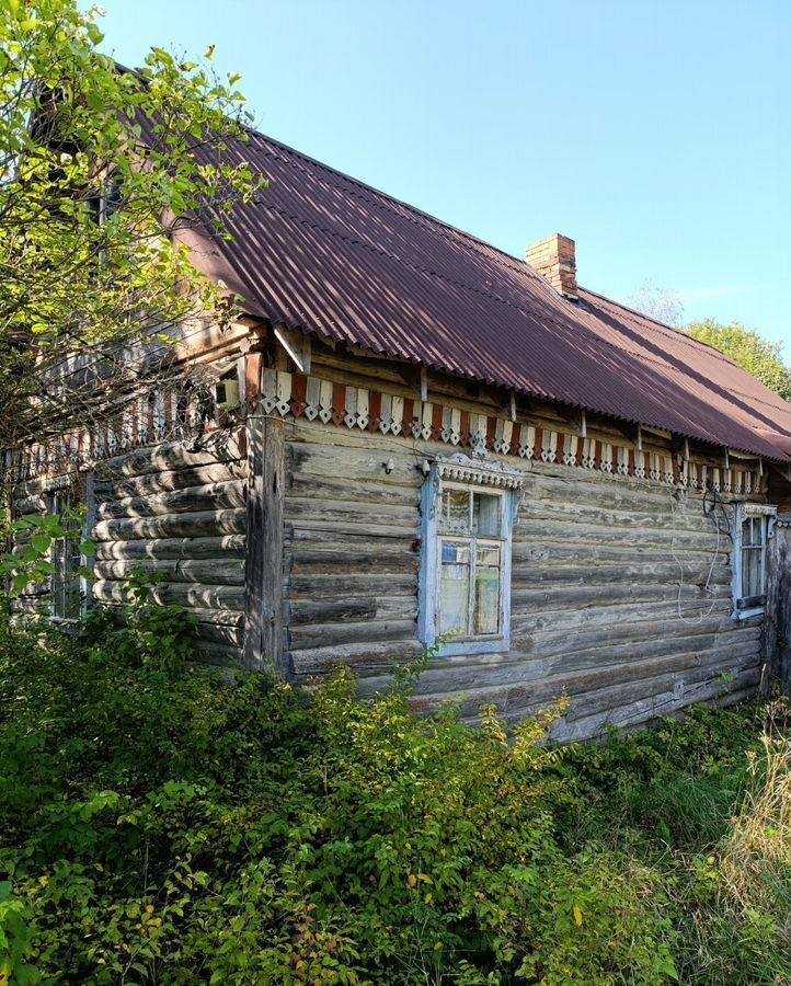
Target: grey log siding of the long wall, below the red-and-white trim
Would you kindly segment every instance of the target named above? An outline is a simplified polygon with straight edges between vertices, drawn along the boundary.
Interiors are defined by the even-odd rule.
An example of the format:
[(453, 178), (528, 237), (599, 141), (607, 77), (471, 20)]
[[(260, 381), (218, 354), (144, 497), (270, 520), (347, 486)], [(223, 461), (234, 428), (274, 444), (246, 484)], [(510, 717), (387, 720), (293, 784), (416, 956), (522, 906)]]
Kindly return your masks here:
[[(420, 467), (448, 448), (305, 421), (287, 424), (286, 440), (290, 670), (306, 679), (343, 661), (374, 689), (393, 660), (421, 651)], [(495, 702), (516, 719), (566, 693), (559, 735), (571, 737), (754, 689), (760, 621), (731, 619), (730, 540), (718, 546), (700, 493), (672, 497), (649, 481), (531, 463), (514, 531), (512, 647), (435, 658), (417, 704), (456, 697), (473, 718)]]

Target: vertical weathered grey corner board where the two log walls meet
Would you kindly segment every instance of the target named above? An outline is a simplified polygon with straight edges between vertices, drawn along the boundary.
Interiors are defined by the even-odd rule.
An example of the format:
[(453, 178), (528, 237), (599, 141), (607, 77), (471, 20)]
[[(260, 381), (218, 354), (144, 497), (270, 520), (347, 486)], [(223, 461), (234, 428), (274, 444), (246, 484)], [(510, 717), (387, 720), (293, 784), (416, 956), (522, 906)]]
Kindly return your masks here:
[(283, 498), (285, 426), (282, 419), (248, 419), (248, 557), (244, 663), (285, 675), (283, 650)]

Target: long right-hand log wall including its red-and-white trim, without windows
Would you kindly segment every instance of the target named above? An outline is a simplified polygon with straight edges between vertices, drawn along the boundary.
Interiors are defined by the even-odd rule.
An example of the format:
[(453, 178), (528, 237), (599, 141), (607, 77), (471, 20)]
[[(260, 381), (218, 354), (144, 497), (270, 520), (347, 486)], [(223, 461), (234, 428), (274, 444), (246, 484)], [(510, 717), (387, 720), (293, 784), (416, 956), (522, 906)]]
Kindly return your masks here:
[[(512, 639), (507, 652), (433, 658), (416, 707), (454, 699), (474, 718), (482, 703), (495, 702), (519, 719), (566, 693), (571, 706), (557, 734), (573, 738), (594, 735), (606, 722), (635, 725), (693, 701), (733, 701), (755, 690), (761, 619), (731, 617), (730, 539), (706, 516), (703, 488), (714, 483), (726, 504), (764, 501), (757, 462), (731, 471), (713, 450), (681, 452), (672, 436), (652, 432), (630, 440), (596, 419), (582, 425), (587, 442), (578, 434), (550, 440), (573, 436), (580, 422), (538, 401), (509, 409), (514, 427), (520, 424), (524, 435), (529, 426), (538, 447), (520, 447), (515, 457), (512, 445), (511, 455), (498, 455), (507, 394), (409, 372), (314, 344), (312, 389), (288, 374), (268, 383), (277, 391), (270, 406), (277, 401), (286, 417), (282, 647), (288, 674), (308, 680), (342, 661), (370, 692), (386, 684), (393, 661), (421, 653), (423, 463), (469, 452), (465, 442), (455, 448), (434, 437), (452, 408), (468, 420), (495, 416), (496, 425), (491, 417), (482, 425), (486, 459), (527, 473), (513, 534)], [(385, 414), (388, 399), (376, 399), (375, 409), (376, 390), (397, 397), (400, 408), (411, 402), (425, 427), (410, 431), (406, 411), (400, 434), (381, 434), (367, 421)], [(565, 465), (558, 443), (566, 457), (572, 449), (575, 465)], [(581, 468), (583, 446), (588, 468)], [(594, 461), (603, 448), (610, 450), (609, 468)], [(643, 477), (627, 474), (635, 461), (645, 462)]]

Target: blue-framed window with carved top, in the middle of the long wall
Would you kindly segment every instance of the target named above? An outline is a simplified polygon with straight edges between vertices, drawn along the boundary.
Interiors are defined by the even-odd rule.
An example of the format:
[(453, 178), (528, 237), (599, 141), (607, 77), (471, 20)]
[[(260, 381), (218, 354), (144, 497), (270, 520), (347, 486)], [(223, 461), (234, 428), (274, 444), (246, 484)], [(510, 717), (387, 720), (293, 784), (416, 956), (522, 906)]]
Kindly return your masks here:
[(524, 473), (465, 456), (437, 460), (423, 494), (421, 638), (444, 654), (507, 649), (511, 535)]

